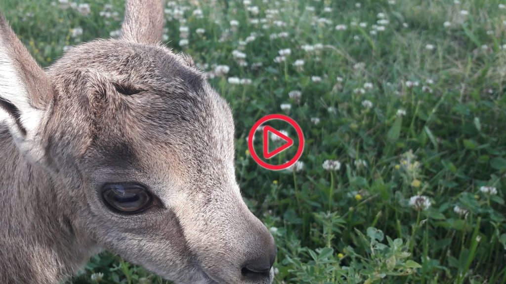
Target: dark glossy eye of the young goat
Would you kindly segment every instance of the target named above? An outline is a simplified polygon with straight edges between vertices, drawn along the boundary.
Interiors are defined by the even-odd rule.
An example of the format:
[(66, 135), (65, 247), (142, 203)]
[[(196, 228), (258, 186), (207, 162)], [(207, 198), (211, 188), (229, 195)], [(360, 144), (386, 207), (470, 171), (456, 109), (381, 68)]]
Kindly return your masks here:
[(141, 213), (153, 205), (151, 193), (140, 184), (108, 183), (102, 199), (109, 209), (123, 214)]

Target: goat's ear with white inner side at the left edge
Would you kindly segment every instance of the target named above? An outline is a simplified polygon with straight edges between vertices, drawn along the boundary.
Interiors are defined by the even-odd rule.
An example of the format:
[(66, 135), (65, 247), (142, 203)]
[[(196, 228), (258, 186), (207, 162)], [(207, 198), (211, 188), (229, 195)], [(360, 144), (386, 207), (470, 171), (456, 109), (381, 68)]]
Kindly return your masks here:
[(0, 13), (0, 124), (9, 126), (16, 144), (37, 136), (54, 94), (51, 80), (30, 56)]

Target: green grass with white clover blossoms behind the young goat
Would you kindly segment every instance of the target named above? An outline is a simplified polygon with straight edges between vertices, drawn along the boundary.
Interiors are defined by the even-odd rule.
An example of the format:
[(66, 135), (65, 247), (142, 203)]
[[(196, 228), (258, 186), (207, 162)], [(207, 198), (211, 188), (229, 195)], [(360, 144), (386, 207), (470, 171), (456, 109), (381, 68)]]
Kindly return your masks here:
[[(275, 236), (275, 283), (506, 283), (502, 3), (167, 3), (164, 41), (233, 109), (237, 180)], [(0, 10), (48, 66), (66, 46), (117, 36), (123, 2)], [(291, 171), (247, 152), (249, 128), (270, 113), (304, 130)], [(166, 283), (107, 253), (70, 282)]]

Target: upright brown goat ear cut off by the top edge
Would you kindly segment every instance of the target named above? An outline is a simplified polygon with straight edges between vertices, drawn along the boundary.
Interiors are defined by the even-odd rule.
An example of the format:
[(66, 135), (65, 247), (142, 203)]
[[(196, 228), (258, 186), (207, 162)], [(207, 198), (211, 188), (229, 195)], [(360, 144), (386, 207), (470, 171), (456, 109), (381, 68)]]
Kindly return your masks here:
[(121, 37), (139, 43), (158, 43), (163, 34), (163, 0), (126, 0)]

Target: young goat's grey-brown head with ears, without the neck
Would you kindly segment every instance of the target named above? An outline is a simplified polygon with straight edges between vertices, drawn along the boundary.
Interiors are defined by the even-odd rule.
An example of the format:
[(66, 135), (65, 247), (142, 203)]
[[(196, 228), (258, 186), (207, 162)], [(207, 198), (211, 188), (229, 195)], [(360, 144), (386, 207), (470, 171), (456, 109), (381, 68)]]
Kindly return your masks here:
[(276, 248), (241, 199), (227, 103), (130, 14), (122, 39), (76, 46), (47, 72), (0, 37), (14, 46), (0, 79), (24, 100), (0, 93), (0, 120), (97, 247), (177, 283), (271, 283)]

